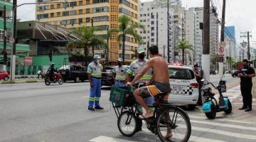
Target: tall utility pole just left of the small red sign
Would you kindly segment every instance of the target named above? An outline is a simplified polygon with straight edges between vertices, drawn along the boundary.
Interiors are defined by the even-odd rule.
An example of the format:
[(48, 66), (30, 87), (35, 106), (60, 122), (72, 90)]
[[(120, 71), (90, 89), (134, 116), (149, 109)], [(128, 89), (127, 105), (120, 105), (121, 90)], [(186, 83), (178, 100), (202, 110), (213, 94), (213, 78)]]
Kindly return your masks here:
[(11, 81), (15, 80), (15, 67), (16, 67), (16, 13), (17, 13), (17, 0), (13, 1), (12, 7), (12, 31), (11, 31)]

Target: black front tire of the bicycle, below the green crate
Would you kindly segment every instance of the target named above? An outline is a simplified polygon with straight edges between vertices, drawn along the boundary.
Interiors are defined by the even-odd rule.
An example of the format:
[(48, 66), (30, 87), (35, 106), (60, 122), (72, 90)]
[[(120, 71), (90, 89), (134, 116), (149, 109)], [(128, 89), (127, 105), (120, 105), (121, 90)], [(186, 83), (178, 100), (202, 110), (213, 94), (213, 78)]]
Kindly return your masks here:
[[(122, 123), (122, 118), (124, 116), (127, 116), (127, 119), (125, 120), (125, 123), (127, 123), (127, 121), (129, 121), (128, 123), (130, 124), (132, 119), (134, 120), (134, 126), (131, 126), (130, 128), (132, 129), (130, 131), (130, 133), (127, 133), (123, 130), (122, 126), (121, 126), (121, 123)], [(129, 119), (129, 120), (128, 120)], [(128, 124), (125, 124), (125, 125), (128, 125)], [(128, 136), (128, 137), (131, 137), (133, 136), (136, 132), (137, 132), (137, 126), (138, 126), (138, 122), (137, 122), (137, 118), (135, 116), (134, 113), (132, 113), (131, 111), (123, 111), (119, 117), (118, 117), (118, 120), (117, 120), (117, 127), (118, 127), (118, 130), (120, 131), (120, 133), (122, 133), (123, 136)]]

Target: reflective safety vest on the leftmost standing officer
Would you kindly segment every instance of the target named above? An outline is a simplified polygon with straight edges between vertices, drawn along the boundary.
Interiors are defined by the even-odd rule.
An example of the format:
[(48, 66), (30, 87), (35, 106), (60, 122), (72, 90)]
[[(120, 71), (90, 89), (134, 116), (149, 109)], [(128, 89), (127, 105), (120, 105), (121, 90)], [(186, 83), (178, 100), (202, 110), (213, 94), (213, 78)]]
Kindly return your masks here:
[(103, 67), (100, 63), (91, 62), (87, 67), (87, 73), (90, 73), (92, 77), (102, 77), (102, 70)]

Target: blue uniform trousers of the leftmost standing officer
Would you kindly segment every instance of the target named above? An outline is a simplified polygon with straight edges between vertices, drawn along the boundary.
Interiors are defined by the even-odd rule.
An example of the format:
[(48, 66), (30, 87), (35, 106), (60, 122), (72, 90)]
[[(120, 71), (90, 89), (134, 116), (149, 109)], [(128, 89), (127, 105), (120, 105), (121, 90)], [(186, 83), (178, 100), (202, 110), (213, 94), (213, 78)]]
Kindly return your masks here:
[(93, 87), (90, 88), (90, 97), (88, 107), (100, 107), (100, 96), (101, 96), (101, 79), (91, 78)]

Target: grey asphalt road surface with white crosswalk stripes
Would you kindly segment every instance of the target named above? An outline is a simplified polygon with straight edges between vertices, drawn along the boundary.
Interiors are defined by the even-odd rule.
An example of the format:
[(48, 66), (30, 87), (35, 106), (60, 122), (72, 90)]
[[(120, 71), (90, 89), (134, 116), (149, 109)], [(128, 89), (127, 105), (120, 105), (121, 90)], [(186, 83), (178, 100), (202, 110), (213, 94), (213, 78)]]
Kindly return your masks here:
[[(214, 76), (211, 78), (215, 78)], [(234, 82), (234, 78), (227, 78)], [(218, 82), (218, 80), (216, 80)], [(132, 138), (122, 136), (109, 99), (110, 88), (102, 89), (105, 109), (87, 111), (89, 83), (0, 85), (0, 141), (159, 141), (144, 131)], [(256, 124), (218, 114), (208, 120), (200, 111), (188, 111), (192, 123), (190, 141), (255, 141)]]

